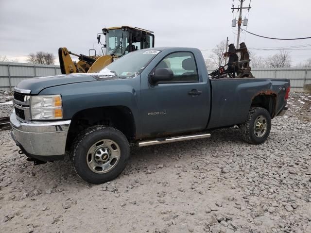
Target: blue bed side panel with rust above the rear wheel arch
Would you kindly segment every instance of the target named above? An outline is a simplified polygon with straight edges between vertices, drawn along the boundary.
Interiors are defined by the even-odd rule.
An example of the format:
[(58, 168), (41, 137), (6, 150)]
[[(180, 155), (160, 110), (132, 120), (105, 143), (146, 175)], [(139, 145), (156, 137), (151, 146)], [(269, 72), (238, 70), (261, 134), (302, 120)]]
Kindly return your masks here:
[(209, 79), (211, 86), (210, 118), (207, 129), (245, 122), (252, 100), (269, 95), (275, 100), (276, 116), (286, 105), (284, 96), (290, 85), (287, 79)]

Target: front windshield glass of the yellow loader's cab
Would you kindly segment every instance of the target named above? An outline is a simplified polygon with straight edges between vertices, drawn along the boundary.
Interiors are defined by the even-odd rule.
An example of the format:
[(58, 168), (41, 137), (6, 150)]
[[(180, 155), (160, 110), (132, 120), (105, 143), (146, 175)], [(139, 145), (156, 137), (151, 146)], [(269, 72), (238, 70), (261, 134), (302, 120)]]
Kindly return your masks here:
[(116, 51), (115, 55), (122, 56), (126, 49), (125, 46), (128, 35), (128, 31), (122, 31), (121, 29), (109, 30), (106, 35), (107, 55), (110, 55), (120, 44), (120, 47)]

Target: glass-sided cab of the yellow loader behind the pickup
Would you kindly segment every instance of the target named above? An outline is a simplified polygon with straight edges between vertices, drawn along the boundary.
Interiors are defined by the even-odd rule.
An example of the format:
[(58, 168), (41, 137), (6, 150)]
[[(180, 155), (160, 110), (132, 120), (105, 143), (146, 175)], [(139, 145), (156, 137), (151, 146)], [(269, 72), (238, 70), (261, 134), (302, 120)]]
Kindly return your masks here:
[[(155, 47), (153, 32), (128, 26), (104, 28), (106, 55), (121, 57), (135, 50)], [(100, 38), (99, 38), (100, 42)]]

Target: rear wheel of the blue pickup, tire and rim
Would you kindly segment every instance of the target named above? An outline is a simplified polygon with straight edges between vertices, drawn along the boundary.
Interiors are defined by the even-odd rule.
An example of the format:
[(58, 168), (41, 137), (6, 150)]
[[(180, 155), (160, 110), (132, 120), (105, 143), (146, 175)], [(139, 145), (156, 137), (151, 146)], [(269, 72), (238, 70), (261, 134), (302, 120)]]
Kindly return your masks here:
[(241, 125), (242, 138), (252, 144), (261, 144), (269, 136), (271, 116), (264, 108), (251, 108), (247, 120)]

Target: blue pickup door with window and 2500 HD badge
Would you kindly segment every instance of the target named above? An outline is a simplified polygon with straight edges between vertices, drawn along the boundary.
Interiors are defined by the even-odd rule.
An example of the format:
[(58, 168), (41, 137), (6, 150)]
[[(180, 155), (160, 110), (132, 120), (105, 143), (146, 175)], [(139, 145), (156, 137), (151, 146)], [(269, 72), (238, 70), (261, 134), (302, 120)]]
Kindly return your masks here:
[(209, 86), (198, 73), (192, 52), (168, 54), (150, 74), (157, 68), (170, 68), (174, 76), (172, 81), (158, 85), (148, 82), (148, 74), (141, 76), (142, 135), (162, 136), (204, 129), (209, 113)]

